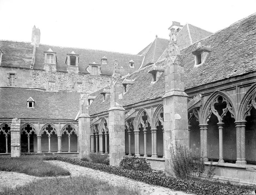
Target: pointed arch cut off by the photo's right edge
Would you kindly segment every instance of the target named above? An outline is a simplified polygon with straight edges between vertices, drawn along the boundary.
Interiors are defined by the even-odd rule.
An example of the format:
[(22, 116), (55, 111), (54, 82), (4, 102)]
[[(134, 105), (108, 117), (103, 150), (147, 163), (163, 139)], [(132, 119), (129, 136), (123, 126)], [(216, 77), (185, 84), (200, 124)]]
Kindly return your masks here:
[(253, 84), (248, 89), (244, 97), (241, 99), (241, 102), (238, 107), (238, 113), (237, 113), (238, 120), (243, 121), (247, 116), (250, 116), (250, 111), (252, 107), (256, 106), (255, 99), (256, 99), (256, 83)]

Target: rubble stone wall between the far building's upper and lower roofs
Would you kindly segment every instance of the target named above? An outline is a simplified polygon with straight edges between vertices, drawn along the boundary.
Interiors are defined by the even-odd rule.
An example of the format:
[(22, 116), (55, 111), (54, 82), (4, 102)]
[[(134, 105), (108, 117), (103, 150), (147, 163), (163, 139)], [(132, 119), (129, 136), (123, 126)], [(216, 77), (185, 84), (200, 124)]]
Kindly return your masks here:
[(58, 90), (76, 91), (76, 83), (82, 83), (88, 93), (97, 91), (110, 84), (110, 75), (93, 76), (90, 74), (69, 74), (67, 72), (46, 72), (24, 68), (0, 67), (0, 86), (9, 85), (8, 74), (15, 73), (14, 87), (46, 89), (49, 81), (55, 81)]

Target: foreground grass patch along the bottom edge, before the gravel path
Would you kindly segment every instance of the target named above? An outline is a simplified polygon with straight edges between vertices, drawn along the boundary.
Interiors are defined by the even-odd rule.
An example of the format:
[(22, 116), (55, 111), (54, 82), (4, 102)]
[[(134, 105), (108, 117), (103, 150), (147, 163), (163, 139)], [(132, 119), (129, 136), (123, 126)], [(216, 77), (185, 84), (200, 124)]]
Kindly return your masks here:
[(32, 181), (24, 186), (5, 188), (0, 195), (140, 195), (136, 186), (120, 184), (109, 185), (106, 181), (90, 178), (89, 176), (66, 178), (42, 178)]

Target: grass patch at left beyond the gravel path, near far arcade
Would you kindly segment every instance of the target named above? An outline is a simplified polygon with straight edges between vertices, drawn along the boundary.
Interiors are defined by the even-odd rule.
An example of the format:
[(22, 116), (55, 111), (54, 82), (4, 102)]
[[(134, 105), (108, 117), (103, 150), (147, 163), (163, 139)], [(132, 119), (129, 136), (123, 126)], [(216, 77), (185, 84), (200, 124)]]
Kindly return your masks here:
[(43, 156), (0, 158), (0, 171), (14, 171), (38, 177), (70, 175), (68, 170), (43, 162), (42, 158)]

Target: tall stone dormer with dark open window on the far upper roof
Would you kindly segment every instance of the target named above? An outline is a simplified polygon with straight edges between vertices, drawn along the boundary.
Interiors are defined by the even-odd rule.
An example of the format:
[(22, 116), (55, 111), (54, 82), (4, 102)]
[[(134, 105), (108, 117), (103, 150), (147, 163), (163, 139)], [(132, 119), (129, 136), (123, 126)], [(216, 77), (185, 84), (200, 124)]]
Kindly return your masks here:
[(70, 74), (78, 74), (78, 65), (79, 65), (79, 54), (76, 54), (72, 51), (70, 54), (67, 54), (66, 59), (67, 71)]

